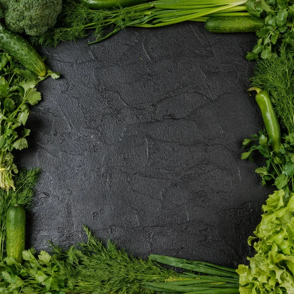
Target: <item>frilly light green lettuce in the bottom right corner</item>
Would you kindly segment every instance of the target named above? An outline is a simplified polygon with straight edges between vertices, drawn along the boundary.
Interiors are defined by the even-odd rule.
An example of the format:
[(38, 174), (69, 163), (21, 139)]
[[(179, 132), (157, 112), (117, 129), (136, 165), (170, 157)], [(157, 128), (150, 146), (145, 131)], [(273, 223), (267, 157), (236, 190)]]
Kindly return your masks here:
[(294, 294), (294, 193), (283, 190), (269, 196), (262, 220), (249, 237), (256, 254), (240, 265), (240, 294)]

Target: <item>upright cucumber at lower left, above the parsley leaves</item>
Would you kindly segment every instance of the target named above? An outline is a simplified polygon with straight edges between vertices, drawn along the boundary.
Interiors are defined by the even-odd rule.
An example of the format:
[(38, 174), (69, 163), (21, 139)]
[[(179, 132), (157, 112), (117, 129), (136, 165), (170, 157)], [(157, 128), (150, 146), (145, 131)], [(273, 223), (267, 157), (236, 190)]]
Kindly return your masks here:
[(25, 250), (25, 209), (14, 205), (6, 212), (6, 253), (22, 263)]

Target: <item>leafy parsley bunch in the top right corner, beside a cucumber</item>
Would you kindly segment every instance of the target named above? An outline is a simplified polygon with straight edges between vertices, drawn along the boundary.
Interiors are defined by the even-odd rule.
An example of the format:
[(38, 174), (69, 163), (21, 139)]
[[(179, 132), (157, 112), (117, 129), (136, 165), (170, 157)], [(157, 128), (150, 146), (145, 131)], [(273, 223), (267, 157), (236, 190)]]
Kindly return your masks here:
[(246, 10), (265, 19), (265, 27), (256, 32), (257, 44), (246, 58), (255, 60), (276, 57), (274, 46), (294, 46), (294, 5), (292, 0), (247, 0)]

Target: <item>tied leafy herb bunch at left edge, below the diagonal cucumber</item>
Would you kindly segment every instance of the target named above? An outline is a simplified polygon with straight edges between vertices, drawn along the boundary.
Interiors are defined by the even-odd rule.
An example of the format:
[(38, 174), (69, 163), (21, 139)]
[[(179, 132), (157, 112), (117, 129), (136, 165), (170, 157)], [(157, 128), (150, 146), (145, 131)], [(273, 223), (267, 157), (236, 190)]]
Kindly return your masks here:
[(37, 77), (13, 60), (7, 53), (0, 52), (0, 188), (15, 190), (13, 176), (18, 172), (11, 151), (27, 147), (26, 137), (30, 130), (25, 128), (29, 106), (41, 100), (36, 85), (48, 76), (58, 74), (48, 71), (45, 77)]

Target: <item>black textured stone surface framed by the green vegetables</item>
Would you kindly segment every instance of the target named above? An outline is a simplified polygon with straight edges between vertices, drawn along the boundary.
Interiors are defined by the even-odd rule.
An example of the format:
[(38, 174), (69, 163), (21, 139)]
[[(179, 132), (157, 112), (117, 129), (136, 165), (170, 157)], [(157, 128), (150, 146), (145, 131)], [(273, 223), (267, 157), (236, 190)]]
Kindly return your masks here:
[(187, 22), (42, 49), (62, 78), (40, 86), (18, 157), (43, 170), (29, 245), (68, 247), (86, 224), (143, 258), (244, 263), (269, 192), (240, 159), (263, 126), (246, 94), (254, 42)]

